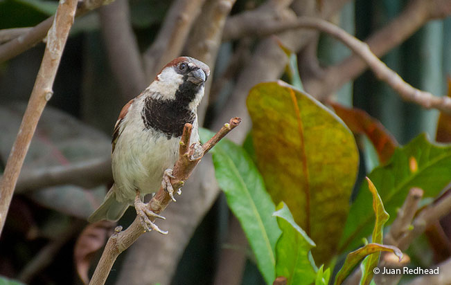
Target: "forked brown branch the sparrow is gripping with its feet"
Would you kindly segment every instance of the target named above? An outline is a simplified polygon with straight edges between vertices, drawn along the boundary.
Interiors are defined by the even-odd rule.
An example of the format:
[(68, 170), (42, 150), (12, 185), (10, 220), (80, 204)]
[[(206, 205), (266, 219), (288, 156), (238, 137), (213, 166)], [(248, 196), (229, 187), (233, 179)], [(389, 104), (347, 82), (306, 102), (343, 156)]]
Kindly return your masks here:
[[(174, 165), (173, 176), (171, 178), (171, 184), (173, 184), (174, 190), (177, 191), (182, 187), (184, 181), (191, 176), (193, 169), (200, 162), (200, 159), (206, 154), (211, 147), (213, 147), (218, 141), (229, 134), (229, 132), (240, 124), (240, 118), (232, 118), (228, 124), (225, 124), (218, 133), (213, 136), (203, 147), (200, 147), (199, 143), (194, 143), (188, 148), (191, 134), (191, 124), (186, 124), (182, 135), (182, 140), (179, 148), (179, 159)], [(169, 205), (170, 196), (163, 187), (155, 194), (150, 202), (148, 208), (154, 213), (161, 213)], [(133, 223), (124, 231), (121, 231), (121, 227), (118, 227), (116, 233), (112, 235), (107, 241), (105, 250), (102, 257), (94, 271), (94, 275), (89, 284), (105, 284), (109, 271), (111, 270), (114, 261), (121, 252), (127, 249), (129, 246), (138, 239), (145, 231), (141, 226), (139, 217), (136, 216)], [(154, 221), (154, 219), (152, 219)]]

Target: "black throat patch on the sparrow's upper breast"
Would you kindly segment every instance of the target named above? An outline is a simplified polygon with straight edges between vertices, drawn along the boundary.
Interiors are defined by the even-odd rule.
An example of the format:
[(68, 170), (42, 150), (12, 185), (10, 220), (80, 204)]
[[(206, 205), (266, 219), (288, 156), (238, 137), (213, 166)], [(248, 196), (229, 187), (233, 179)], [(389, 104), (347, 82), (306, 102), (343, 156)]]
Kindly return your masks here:
[(141, 112), (145, 127), (163, 132), (168, 140), (181, 137), (184, 125), (187, 122), (193, 124), (195, 119), (195, 113), (188, 110), (188, 104), (183, 101), (145, 98)]

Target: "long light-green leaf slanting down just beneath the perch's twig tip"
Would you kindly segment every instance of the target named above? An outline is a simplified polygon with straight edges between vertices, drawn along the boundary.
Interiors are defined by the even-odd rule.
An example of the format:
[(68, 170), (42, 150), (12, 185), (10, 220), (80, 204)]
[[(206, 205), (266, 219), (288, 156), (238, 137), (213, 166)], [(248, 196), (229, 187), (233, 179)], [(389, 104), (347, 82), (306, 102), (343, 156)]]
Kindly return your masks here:
[[(211, 138), (204, 129), (202, 140)], [(267, 284), (272, 284), (276, 266), (276, 241), (281, 235), (276, 217), (276, 206), (265, 190), (263, 178), (242, 147), (222, 139), (212, 149), (215, 176), (227, 197), (229, 208), (238, 218), (247, 240), (256, 256), (257, 266)]]

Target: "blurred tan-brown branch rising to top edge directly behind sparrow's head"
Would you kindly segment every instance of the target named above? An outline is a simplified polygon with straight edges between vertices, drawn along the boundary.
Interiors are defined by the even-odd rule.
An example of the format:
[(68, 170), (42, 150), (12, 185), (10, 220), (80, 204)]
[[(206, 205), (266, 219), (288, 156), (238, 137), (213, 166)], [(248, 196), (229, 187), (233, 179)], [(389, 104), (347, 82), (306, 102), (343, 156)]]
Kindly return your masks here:
[(157, 39), (144, 53), (145, 75), (150, 80), (161, 66), (182, 53), (186, 37), (205, 0), (177, 0), (163, 21)]

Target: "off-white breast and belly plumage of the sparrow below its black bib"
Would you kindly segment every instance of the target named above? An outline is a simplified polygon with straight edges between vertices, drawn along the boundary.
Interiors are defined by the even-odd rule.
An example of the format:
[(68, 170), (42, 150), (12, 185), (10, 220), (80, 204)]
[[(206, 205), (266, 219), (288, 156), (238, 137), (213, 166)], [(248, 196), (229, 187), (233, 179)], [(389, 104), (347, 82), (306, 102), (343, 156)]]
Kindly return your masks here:
[[(131, 108), (139, 108), (136, 102)], [(163, 172), (172, 168), (179, 153), (180, 137), (170, 137), (145, 127), (138, 110), (130, 110), (121, 122), (121, 134), (112, 154), (112, 170), (119, 201), (133, 201), (141, 194), (157, 192)]]

